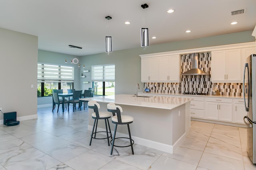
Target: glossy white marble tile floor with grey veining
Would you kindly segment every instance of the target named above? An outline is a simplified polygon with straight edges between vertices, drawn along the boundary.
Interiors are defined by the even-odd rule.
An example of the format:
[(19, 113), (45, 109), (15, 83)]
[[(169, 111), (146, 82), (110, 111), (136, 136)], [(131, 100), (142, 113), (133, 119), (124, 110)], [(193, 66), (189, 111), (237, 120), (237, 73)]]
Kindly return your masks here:
[(174, 154), (135, 141), (134, 155), (127, 147), (114, 148), (111, 156), (106, 140), (89, 146), (88, 109), (51, 109), (38, 108), (38, 119), (20, 125), (0, 125), (0, 170), (256, 170), (246, 153), (245, 128), (191, 121)]

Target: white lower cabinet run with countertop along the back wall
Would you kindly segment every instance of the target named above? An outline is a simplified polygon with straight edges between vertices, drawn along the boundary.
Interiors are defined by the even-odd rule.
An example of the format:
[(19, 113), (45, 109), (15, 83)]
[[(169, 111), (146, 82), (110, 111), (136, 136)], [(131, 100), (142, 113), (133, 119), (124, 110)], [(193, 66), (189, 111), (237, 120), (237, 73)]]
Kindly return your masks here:
[(166, 96), (176, 98), (192, 98), (190, 101), (190, 117), (205, 120), (222, 121), (244, 125), (243, 98), (205, 97), (192, 95), (163, 95), (154, 93), (138, 93), (141, 96)]

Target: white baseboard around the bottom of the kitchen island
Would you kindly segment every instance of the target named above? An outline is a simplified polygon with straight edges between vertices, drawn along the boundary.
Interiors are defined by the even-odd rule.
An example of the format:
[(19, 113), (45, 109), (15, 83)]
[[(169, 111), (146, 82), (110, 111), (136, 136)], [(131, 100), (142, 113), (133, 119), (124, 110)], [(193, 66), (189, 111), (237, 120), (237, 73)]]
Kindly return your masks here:
[[(88, 130), (92, 131), (92, 126), (91, 125), (88, 125)], [(97, 127), (97, 131), (106, 131), (106, 129)], [(102, 133), (102, 134), (105, 135), (106, 133)], [(114, 131), (112, 131), (112, 134), (114, 134)], [(128, 137), (129, 138), (129, 135), (117, 132), (116, 137)], [(136, 144), (143, 145), (145, 147), (150, 147), (150, 148), (153, 148), (153, 149), (161, 150), (163, 152), (168, 152), (168, 153), (172, 154), (174, 152), (174, 150), (178, 149), (178, 147), (186, 139), (186, 133), (184, 133), (176, 141), (176, 143), (174, 143), (174, 145), (167, 145), (167, 144), (164, 144), (164, 143), (159, 143), (159, 142), (156, 142), (156, 141), (150, 141), (148, 139), (143, 139), (143, 138), (134, 137), (134, 136), (132, 136), (132, 139), (134, 140), (134, 143), (136, 143)], [(128, 141), (128, 139), (124, 139), (124, 140)]]

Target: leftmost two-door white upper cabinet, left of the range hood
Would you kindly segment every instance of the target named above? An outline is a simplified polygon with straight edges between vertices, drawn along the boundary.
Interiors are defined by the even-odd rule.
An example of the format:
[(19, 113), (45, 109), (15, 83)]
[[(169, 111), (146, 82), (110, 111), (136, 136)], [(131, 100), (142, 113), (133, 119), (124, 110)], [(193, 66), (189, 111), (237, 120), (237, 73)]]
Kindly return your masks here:
[(141, 82), (158, 82), (158, 68), (158, 57), (141, 59)]

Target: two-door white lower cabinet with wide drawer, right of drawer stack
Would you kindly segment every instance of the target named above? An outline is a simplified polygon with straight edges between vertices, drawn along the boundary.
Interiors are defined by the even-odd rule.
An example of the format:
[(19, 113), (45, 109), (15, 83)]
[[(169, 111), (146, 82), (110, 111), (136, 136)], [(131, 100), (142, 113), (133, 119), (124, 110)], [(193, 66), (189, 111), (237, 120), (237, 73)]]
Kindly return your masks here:
[(232, 99), (205, 98), (205, 118), (232, 122)]

